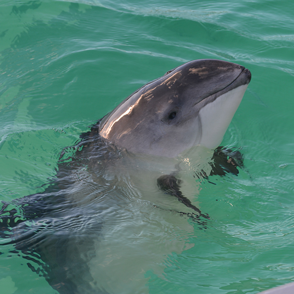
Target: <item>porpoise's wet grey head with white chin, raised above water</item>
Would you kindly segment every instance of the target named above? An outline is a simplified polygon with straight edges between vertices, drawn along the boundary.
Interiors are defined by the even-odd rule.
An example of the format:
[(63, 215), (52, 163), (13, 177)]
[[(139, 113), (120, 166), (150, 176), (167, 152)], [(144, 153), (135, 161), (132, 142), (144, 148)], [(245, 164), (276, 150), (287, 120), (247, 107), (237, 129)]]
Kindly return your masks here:
[(100, 123), (101, 137), (130, 152), (176, 157), (215, 148), (251, 79), (245, 67), (201, 59), (185, 63), (126, 98)]

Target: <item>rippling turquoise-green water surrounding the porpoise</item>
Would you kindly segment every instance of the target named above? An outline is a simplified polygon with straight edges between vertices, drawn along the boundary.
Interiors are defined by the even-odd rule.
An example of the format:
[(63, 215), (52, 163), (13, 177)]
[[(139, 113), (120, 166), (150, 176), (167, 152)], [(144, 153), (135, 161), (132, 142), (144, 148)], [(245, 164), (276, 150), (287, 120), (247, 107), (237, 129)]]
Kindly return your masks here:
[[(204, 182), (211, 221), (147, 272), (150, 294), (255, 294), (294, 281), (294, 3), (0, 1), (0, 199), (44, 191), (58, 158), (123, 98), (190, 60), (252, 73), (222, 146), (238, 176)], [(1, 248), (4, 294), (57, 293)], [(2, 289), (4, 289), (2, 291)]]

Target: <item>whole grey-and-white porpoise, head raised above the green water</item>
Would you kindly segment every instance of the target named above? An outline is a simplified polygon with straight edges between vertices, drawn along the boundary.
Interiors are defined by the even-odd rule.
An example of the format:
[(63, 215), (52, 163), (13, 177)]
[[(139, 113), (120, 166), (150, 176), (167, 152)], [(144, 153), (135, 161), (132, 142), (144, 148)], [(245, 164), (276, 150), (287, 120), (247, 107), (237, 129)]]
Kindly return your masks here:
[(1, 245), (60, 294), (148, 293), (147, 272), (193, 246), (188, 220), (209, 229), (195, 176), (242, 166), (218, 146), (250, 79), (202, 59), (147, 83), (61, 153), (44, 192), (2, 202)]

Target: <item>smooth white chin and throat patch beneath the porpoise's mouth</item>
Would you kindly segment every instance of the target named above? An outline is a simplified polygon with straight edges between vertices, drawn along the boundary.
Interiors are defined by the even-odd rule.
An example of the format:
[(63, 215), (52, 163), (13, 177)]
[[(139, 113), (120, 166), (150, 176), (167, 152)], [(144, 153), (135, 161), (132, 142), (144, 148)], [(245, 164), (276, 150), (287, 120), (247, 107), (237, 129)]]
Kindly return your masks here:
[(235, 88), (200, 109), (201, 146), (213, 149), (221, 144), (223, 135), (241, 103), (246, 88), (247, 85)]

